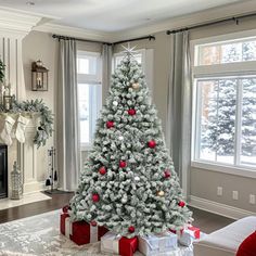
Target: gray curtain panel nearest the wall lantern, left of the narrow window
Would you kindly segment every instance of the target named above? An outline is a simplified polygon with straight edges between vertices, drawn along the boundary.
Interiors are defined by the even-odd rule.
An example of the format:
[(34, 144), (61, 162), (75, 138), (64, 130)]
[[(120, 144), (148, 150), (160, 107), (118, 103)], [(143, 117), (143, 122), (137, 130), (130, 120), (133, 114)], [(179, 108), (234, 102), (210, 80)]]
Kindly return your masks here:
[(60, 40), (59, 85), (56, 91), (57, 168), (61, 187), (77, 188), (80, 172), (79, 123), (77, 100), (77, 50), (75, 40)]

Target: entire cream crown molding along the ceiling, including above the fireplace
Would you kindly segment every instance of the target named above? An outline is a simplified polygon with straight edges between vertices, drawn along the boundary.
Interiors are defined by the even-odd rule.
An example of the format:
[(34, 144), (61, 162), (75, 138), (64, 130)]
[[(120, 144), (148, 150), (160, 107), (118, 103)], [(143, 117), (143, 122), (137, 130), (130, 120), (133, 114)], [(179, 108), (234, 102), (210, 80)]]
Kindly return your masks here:
[(164, 31), (177, 29), (188, 25), (197, 25), (205, 22), (217, 21), (225, 17), (247, 14), (256, 11), (256, 1), (242, 1), (227, 4), (220, 8), (213, 8), (206, 11), (196, 12), (183, 16), (168, 18), (154, 24), (143, 25), (137, 28), (106, 33), (92, 29), (59, 25), (52, 21), (59, 20), (55, 16), (33, 14), (29, 12), (17, 11), (9, 8), (0, 8), (0, 31), (27, 35), (30, 30), (59, 34), (63, 36), (85, 38), (99, 41), (114, 42), (137, 38)]

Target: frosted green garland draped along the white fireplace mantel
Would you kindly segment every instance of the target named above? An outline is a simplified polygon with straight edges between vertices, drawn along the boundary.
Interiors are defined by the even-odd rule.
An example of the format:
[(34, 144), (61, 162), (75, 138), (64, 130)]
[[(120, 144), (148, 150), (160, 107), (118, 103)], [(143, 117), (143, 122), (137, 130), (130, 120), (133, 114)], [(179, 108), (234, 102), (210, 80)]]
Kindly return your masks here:
[(47, 140), (53, 132), (53, 115), (51, 110), (46, 105), (42, 100), (36, 99), (30, 101), (12, 102), (12, 110), (4, 111), (3, 105), (0, 104), (0, 113), (22, 114), (22, 113), (39, 113), (40, 125), (37, 127), (37, 133), (34, 143), (37, 148), (46, 145)]

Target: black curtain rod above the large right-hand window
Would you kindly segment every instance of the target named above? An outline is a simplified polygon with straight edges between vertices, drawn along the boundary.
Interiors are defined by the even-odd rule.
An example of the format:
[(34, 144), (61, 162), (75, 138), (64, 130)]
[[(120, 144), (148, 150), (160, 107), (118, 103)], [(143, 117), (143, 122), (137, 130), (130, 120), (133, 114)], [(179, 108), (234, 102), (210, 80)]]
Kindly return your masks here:
[(178, 28), (178, 29), (174, 29), (174, 30), (167, 30), (166, 34), (171, 35), (171, 34), (176, 34), (176, 33), (180, 33), (180, 31), (184, 31), (184, 30), (206, 27), (206, 26), (216, 25), (216, 24), (220, 24), (220, 23), (225, 23), (225, 22), (231, 22), (231, 21), (235, 22), (236, 25), (239, 25), (239, 18), (253, 17), (253, 16), (256, 16), (256, 13), (236, 15), (236, 16), (233, 16), (233, 17), (227, 17), (227, 18), (222, 18), (222, 20), (219, 20), (219, 21), (202, 23), (202, 24), (197, 24), (197, 25), (194, 25), (194, 26), (190, 26), (190, 27), (182, 27), (182, 28)]

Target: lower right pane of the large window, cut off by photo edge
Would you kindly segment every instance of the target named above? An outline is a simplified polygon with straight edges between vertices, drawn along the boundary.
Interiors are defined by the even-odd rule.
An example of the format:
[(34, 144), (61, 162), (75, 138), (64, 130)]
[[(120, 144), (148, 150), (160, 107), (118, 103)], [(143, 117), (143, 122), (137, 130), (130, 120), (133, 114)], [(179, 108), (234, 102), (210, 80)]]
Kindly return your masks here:
[(242, 79), (242, 155), (241, 163), (256, 165), (256, 79)]

